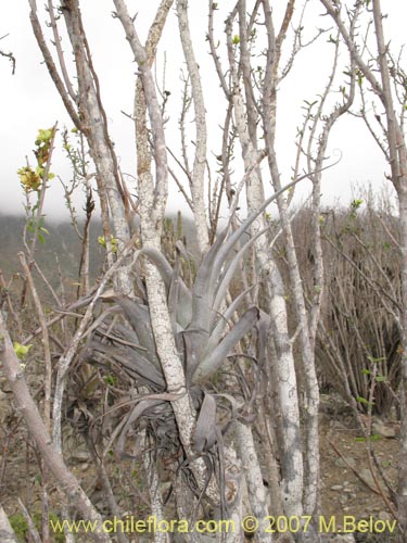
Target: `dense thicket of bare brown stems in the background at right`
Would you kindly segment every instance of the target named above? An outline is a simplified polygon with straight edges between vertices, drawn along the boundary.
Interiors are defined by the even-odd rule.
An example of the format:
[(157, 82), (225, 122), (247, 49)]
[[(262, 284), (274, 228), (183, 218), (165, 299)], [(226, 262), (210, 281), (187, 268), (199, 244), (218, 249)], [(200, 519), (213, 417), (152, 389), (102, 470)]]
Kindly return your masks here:
[[(366, 412), (374, 368), (373, 412), (389, 415), (397, 405), (400, 377), (397, 217), (385, 198), (373, 201), (368, 194), (347, 210), (325, 211), (320, 223), (326, 278), (316, 345), (320, 387)], [(308, 274), (309, 228), (305, 210), (295, 231), (308, 298), (318, 288)]]

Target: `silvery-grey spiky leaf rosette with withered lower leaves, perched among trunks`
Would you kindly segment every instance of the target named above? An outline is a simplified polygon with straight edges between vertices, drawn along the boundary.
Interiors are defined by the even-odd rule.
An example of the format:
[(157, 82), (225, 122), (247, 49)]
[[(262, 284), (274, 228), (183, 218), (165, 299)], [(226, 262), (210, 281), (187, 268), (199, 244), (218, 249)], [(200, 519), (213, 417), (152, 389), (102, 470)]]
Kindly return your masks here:
[[(124, 402), (126, 415), (113, 432), (119, 455), (128, 455), (128, 434), (142, 425), (150, 442), (153, 440), (155, 444), (157, 457), (166, 466), (169, 458), (177, 458), (178, 469), (189, 470), (191, 463), (201, 456), (206, 466), (211, 464), (211, 472), (219, 472), (224, 437), (230, 422), (236, 419), (244, 424), (253, 421), (268, 319), (255, 306), (242, 310), (251, 288), (229, 304), (227, 293), (244, 253), (265, 233), (263, 230), (250, 237), (250, 226), (276, 197), (277, 193), (234, 230), (230, 218), (202, 260), (191, 287), (180, 273), (181, 258), (189, 258), (181, 242), (176, 243), (173, 266), (157, 250), (141, 249), (136, 255), (136, 258), (143, 255), (156, 266), (166, 287), (174, 340), (196, 412), (193, 458), (187, 458), (178, 437), (169, 402), (170, 391), (166, 389), (155, 348), (147, 295), (130, 299), (112, 290), (103, 295), (109, 306), (93, 325), (84, 359), (103, 365), (109, 371), (125, 371), (133, 380), (135, 390), (142, 391), (137, 397)], [(140, 280), (138, 282), (140, 285)], [(122, 323), (118, 315), (124, 317)], [(249, 344), (255, 343), (256, 346), (244, 353), (241, 340), (249, 332)]]

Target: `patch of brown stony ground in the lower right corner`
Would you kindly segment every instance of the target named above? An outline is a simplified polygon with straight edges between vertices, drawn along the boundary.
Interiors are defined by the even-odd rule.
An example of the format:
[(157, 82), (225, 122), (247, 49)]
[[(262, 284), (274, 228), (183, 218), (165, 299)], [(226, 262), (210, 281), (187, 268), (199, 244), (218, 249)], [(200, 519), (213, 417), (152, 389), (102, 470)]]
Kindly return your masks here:
[[(355, 541), (391, 542), (392, 533), (381, 530), (383, 522), (392, 522), (393, 516), (384, 503), (369, 468), (366, 442), (351, 415), (351, 411), (338, 400), (321, 397), (320, 409), (320, 456), (321, 456), (321, 512), (323, 517), (334, 517), (341, 527), (344, 518), (368, 520), (367, 532), (355, 532)], [(373, 432), (378, 440), (372, 443), (379, 468), (389, 483), (396, 488), (398, 425), (374, 418)], [(381, 481), (380, 481), (381, 482)], [(389, 495), (383, 482), (383, 493)], [(351, 520), (352, 521), (352, 520)], [(361, 525), (364, 528), (364, 525)]]

